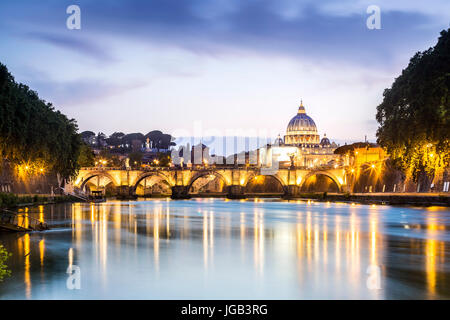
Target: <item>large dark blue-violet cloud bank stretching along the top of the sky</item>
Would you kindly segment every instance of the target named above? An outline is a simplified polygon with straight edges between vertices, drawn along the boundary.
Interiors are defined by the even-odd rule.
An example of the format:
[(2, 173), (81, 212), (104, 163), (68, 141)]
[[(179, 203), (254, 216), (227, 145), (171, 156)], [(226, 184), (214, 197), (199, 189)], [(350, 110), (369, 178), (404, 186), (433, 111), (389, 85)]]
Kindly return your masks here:
[[(383, 2), (384, 4), (384, 2)], [(219, 56), (239, 50), (260, 55), (333, 59), (385, 65), (399, 49), (435, 36), (439, 10), (382, 7), (382, 30), (366, 28), (365, 1), (130, 0), (84, 2), (90, 31)], [(448, 14), (447, 14), (448, 16)], [(88, 18), (86, 18), (88, 19)], [(442, 21), (442, 19), (440, 19)]]

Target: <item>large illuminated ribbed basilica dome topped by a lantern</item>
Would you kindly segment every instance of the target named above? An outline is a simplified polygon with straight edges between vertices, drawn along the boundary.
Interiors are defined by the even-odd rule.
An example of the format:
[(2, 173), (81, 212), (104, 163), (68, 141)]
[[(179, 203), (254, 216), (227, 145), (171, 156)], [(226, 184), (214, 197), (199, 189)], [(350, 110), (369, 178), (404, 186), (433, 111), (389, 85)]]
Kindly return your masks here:
[(286, 144), (301, 145), (311, 147), (319, 144), (319, 134), (317, 133), (316, 123), (306, 114), (303, 102), (300, 103), (297, 115), (289, 121), (286, 135), (284, 136)]

